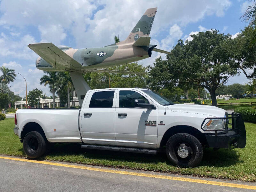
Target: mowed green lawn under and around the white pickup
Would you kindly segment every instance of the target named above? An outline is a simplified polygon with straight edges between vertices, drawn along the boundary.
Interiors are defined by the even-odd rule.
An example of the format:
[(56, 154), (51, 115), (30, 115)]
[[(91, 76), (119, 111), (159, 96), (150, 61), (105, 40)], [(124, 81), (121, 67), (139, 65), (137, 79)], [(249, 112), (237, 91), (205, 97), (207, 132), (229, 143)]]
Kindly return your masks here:
[[(26, 156), (22, 143), (13, 133), (14, 118), (0, 121), (0, 154)], [(256, 124), (245, 123), (247, 143), (244, 149), (204, 149), (202, 163), (195, 168), (179, 168), (167, 161), (164, 153), (145, 155), (125, 152), (81, 149), (79, 144), (55, 144), (42, 160), (63, 161), (199, 177), (256, 181)]]

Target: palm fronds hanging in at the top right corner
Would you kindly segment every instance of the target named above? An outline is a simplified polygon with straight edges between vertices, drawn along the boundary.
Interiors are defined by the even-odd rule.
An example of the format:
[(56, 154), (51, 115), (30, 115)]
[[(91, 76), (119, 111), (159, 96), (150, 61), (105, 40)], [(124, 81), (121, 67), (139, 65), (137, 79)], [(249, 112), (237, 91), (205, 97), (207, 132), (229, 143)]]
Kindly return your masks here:
[(252, 2), (253, 4), (248, 6), (245, 13), (240, 17), (243, 21), (249, 21), (246, 30), (252, 31), (252, 41), (250, 44), (256, 42), (256, 0), (252, 0)]

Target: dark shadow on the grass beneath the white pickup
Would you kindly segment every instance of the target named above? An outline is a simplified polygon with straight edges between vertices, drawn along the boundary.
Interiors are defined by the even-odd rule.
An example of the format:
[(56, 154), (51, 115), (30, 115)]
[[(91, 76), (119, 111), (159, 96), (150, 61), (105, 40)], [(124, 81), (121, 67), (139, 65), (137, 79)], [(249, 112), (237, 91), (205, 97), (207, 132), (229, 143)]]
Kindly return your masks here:
[[(82, 156), (84, 159), (95, 159), (97, 164), (104, 161), (138, 163), (138, 164), (167, 164), (172, 165), (165, 153), (158, 153), (157, 155), (129, 153), (129, 152), (116, 152), (105, 150), (81, 149), (81, 144), (55, 144), (52, 150), (46, 155), (52, 159), (61, 159), (63, 161), (70, 161), (76, 159), (74, 156)], [(22, 149), (21, 149), (22, 150)], [(24, 153), (24, 152), (23, 152)], [(68, 157), (68, 156), (73, 156)], [(242, 163), (238, 159), (238, 155), (234, 150), (219, 149), (204, 149), (203, 161), (199, 166), (214, 166), (214, 167), (228, 167), (236, 163)], [(80, 157), (81, 158), (81, 157)], [(42, 157), (45, 159), (45, 156)], [(79, 161), (81, 162), (81, 161)], [(83, 162), (81, 162), (83, 163)]]

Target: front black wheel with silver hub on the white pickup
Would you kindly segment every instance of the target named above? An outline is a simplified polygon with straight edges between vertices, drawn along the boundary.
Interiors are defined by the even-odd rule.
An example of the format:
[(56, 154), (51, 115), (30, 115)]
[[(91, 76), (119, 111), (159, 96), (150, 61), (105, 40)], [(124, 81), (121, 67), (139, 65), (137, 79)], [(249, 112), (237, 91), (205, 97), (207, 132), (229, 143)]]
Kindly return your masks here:
[(202, 161), (203, 154), (204, 150), (200, 141), (188, 133), (177, 133), (166, 144), (167, 158), (177, 166), (195, 167)]

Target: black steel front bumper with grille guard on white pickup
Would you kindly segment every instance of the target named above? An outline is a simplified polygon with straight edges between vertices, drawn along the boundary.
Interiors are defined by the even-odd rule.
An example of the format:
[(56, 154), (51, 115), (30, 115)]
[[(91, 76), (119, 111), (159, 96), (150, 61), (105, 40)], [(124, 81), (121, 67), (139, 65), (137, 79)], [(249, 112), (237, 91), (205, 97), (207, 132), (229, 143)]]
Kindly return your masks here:
[[(232, 123), (228, 123), (232, 125), (231, 129), (226, 130), (205, 130), (203, 128), (203, 124), (206, 120), (209, 119), (226, 119), (227, 122), (229, 119), (232, 120)], [(205, 133), (205, 139), (208, 143), (208, 147), (213, 148), (244, 148), (246, 145), (246, 132), (244, 121), (242, 116), (239, 113), (233, 112), (231, 117), (221, 117), (221, 118), (206, 118), (201, 125), (201, 129), (204, 131), (214, 131), (215, 133)]]

